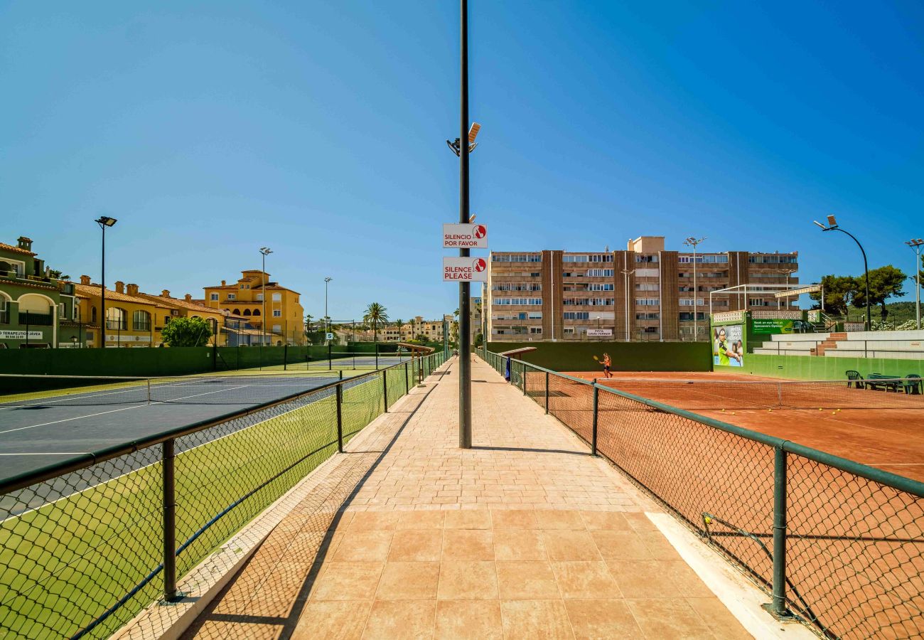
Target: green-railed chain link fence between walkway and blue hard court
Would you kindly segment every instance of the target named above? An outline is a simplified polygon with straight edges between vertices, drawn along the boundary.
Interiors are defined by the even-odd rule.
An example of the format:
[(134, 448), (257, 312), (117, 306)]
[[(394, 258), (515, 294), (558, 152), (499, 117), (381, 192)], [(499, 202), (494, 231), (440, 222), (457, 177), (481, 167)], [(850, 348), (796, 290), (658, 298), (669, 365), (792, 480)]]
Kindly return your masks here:
[(445, 353), (0, 480), (5, 638), (107, 637), (280, 498)]

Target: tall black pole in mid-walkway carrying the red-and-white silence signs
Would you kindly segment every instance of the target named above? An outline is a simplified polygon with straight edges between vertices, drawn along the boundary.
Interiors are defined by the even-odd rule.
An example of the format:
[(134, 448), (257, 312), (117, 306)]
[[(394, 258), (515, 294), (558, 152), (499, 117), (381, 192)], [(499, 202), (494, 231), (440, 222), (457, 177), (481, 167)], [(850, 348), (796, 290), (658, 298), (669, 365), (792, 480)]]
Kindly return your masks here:
[[(468, 224), (468, 0), (460, 0), (459, 222)], [(468, 257), (459, 249), (459, 257)], [(471, 316), (468, 282), (459, 283), (459, 448), (471, 449)]]

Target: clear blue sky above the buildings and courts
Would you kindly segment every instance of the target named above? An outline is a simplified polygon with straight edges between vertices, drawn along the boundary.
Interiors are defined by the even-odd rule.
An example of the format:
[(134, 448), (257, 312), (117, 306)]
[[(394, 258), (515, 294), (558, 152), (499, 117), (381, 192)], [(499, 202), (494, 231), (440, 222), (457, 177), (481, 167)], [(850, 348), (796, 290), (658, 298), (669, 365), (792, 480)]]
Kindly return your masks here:
[[(798, 251), (906, 272), (924, 6), (470, 0), (471, 203), (492, 249)], [(455, 0), (0, 3), (0, 241), (201, 297), (259, 268), (323, 311), (457, 306)], [(909, 292), (913, 292), (910, 287)]]

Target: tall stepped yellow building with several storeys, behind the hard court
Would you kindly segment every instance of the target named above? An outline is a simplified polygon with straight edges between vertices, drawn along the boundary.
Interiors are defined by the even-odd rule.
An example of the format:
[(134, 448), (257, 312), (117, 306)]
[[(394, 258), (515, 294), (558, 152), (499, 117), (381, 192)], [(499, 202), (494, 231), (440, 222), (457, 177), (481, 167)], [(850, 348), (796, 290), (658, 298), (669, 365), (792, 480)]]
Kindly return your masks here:
[(272, 282), (260, 269), (242, 271), (237, 284), (222, 280), (221, 285), (203, 289), (206, 306), (245, 318), (267, 334), (268, 344), (304, 343), (305, 310), (298, 303), (298, 291)]

